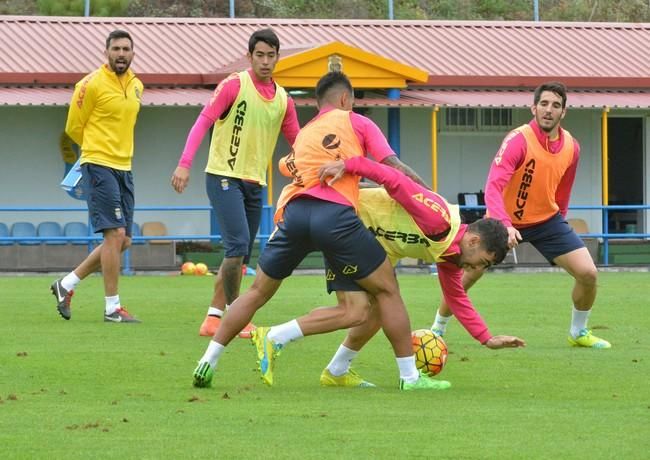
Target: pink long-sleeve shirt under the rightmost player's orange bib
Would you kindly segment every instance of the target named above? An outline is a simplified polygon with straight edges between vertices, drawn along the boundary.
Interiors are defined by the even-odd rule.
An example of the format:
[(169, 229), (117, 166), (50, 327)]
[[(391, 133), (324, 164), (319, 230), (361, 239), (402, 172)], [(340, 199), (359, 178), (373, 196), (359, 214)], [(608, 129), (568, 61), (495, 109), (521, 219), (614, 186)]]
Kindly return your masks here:
[[(541, 145), (545, 146), (547, 151), (550, 153), (560, 151), (564, 145), (564, 131), (562, 128), (560, 128), (558, 138), (551, 140), (540, 129), (535, 120), (532, 120), (529, 124), (533, 128), (537, 140)], [(580, 145), (576, 139), (573, 140), (573, 145), (573, 162), (560, 179), (555, 193), (555, 202), (560, 208), (560, 213), (563, 217), (566, 217), (569, 208), (571, 188), (573, 187), (578, 169), (578, 160), (580, 158)], [(505, 203), (503, 202), (503, 190), (515, 171), (523, 164), (526, 158), (526, 147), (526, 138), (523, 133), (506, 136), (501, 144), (501, 148), (496, 154), (495, 161), (492, 162), (487, 183), (485, 184), (485, 205), (488, 214), (490, 217), (499, 219), (506, 227), (512, 227), (513, 225), (510, 216), (506, 212)], [(535, 199), (535, 197), (531, 196), (528, 199)]]

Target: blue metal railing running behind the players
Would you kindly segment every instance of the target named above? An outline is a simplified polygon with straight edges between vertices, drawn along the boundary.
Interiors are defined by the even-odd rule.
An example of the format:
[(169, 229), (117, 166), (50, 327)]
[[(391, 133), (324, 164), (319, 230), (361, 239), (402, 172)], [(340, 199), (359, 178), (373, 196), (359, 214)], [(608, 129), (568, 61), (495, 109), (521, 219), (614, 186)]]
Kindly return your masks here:
[[(462, 210), (485, 210), (485, 206), (461, 206)], [(602, 228), (604, 229), (601, 233), (581, 233), (580, 236), (583, 238), (599, 238), (603, 241), (603, 264), (609, 265), (609, 244), (612, 239), (647, 239), (650, 238), (650, 233), (637, 233), (637, 232), (620, 232), (620, 233), (610, 233), (609, 232), (609, 217), (612, 212), (632, 212), (632, 211), (643, 211), (644, 213), (650, 209), (650, 205), (610, 205), (610, 206), (570, 206), (570, 210), (587, 210), (587, 211), (599, 211), (602, 214)], [(207, 211), (210, 213), (210, 221), (214, 222), (215, 218), (210, 206), (139, 206), (136, 207), (137, 211), (161, 211), (161, 212), (187, 212), (187, 211)], [(85, 207), (0, 207), (0, 213), (24, 213), (24, 212), (84, 212), (87, 213), (87, 208)], [(257, 239), (260, 243), (260, 250), (264, 248), (266, 242), (268, 241), (271, 232), (273, 231), (273, 212), (274, 208), (272, 206), (264, 206), (262, 210), (262, 220), (260, 223), (260, 230), (257, 235)], [(87, 216), (84, 216), (87, 219)], [(645, 217), (645, 216), (644, 216)], [(644, 220), (644, 219), (642, 219)], [(0, 219), (2, 222), (2, 219)], [(90, 229), (90, 225), (88, 225)], [(214, 228), (214, 227), (213, 227)], [(31, 236), (31, 237), (14, 237), (14, 236), (2, 236), (0, 235), (0, 244), (11, 244), (14, 242), (25, 243), (32, 242), (35, 244), (44, 243), (44, 242), (71, 242), (71, 241), (87, 241), (89, 250), (92, 247), (92, 243), (96, 241), (101, 241), (102, 237), (97, 236), (94, 233), (90, 233), (82, 238), (79, 236)], [(164, 235), (164, 236), (134, 236), (133, 240), (137, 241), (151, 241), (151, 240), (174, 240), (174, 241), (196, 241), (196, 240), (208, 240), (208, 241), (219, 241), (220, 235), (215, 234), (186, 234), (186, 235)], [(125, 252), (123, 268), (125, 272), (130, 272), (130, 254), (129, 251)]]

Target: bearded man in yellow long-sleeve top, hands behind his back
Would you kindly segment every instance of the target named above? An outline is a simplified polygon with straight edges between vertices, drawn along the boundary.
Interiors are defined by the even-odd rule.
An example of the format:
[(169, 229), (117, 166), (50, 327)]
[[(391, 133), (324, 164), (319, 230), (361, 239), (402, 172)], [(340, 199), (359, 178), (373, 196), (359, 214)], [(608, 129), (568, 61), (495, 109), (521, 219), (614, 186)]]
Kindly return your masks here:
[(101, 269), (104, 321), (139, 323), (122, 306), (118, 281), (120, 256), (131, 245), (135, 205), (131, 160), (144, 87), (129, 68), (135, 53), (128, 32), (112, 31), (104, 55), (107, 62), (75, 85), (65, 126), (66, 134), (81, 147), (90, 222), (104, 239), (77, 268), (56, 280), (51, 290), (59, 314), (69, 320), (75, 287)]

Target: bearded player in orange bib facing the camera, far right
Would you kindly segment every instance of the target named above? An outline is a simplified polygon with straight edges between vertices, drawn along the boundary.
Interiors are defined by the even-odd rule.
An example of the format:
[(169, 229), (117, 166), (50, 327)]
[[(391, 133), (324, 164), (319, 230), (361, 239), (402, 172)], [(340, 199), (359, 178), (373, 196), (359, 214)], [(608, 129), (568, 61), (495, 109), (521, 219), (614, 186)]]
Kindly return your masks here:
[[(578, 141), (560, 126), (566, 115), (566, 100), (562, 83), (548, 82), (535, 89), (531, 107), (534, 118), (503, 140), (488, 174), (485, 204), (487, 214), (507, 227), (510, 247), (527, 241), (551, 265), (562, 267), (575, 279), (569, 344), (610, 348), (609, 342), (587, 328), (596, 299), (598, 271), (584, 243), (566, 221), (580, 156)], [(466, 270), (465, 289), (483, 272)], [(432, 329), (443, 334), (450, 316), (443, 300)]]

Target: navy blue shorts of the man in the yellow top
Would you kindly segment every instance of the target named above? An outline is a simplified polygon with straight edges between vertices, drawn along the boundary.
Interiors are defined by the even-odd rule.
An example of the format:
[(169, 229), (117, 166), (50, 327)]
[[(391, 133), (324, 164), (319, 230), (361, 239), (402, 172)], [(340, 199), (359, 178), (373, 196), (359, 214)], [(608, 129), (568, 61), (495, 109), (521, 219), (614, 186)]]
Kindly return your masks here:
[(88, 188), (86, 202), (95, 233), (124, 228), (131, 236), (135, 206), (131, 171), (84, 163), (81, 175)]

